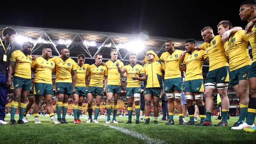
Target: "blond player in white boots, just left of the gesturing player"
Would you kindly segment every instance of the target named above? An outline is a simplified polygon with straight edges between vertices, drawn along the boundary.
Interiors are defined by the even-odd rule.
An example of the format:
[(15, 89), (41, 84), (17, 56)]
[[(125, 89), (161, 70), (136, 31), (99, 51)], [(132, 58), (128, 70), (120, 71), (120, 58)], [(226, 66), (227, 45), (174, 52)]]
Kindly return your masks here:
[(118, 72), (117, 63), (122, 68), (124, 64), (122, 61), (118, 60), (118, 52), (116, 49), (111, 50), (110, 52), (111, 60), (105, 63), (105, 66), (108, 68), (108, 85), (107, 85), (107, 115), (108, 119), (106, 124), (110, 124), (110, 115), (111, 115), (111, 107), (112, 107), (112, 99), (114, 98), (114, 107), (113, 107), (113, 120), (112, 123), (118, 124), (116, 120), (117, 109), (118, 109), (118, 99), (121, 94), (121, 76)]

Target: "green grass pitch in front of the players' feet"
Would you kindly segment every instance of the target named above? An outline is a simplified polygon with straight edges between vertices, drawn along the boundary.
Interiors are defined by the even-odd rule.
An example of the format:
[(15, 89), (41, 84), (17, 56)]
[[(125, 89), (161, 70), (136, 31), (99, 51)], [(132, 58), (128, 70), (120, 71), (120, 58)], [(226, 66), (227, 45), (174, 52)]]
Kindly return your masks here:
[[(67, 116), (68, 124), (50, 124), (48, 116), (39, 116), (42, 124), (35, 124), (33, 116), (28, 116), (32, 122), (24, 125), (1, 125), (0, 143), (1, 144), (137, 144), (137, 143), (173, 143), (173, 144), (254, 144), (256, 143), (256, 133), (246, 133), (243, 130), (232, 130), (229, 127), (198, 127), (198, 126), (179, 126), (178, 117), (174, 117), (175, 125), (167, 126), (165, 122), (159, 124), (135, 125), (124, 124), (128, 117), (117, 117), (119, 124), (106, 125), (106, 117), (99, 117), (100, 124), (85, 121), (87, 117), (80, 117), (83, 124), (73, 124), (73, 117)], [(212, 117), (213, 124), (220, 120)], [(6, 117), (9, 122), (10, 116)], [(18, 116), (15, 116), (18, 119)], [(160, 119), (160, 118), (159, 118)], [(189, 118), (186, 117), (186, 120)], [(200, 118), (198, 118), (200, 119)], [(237, 117), (230, 117), (230, 126), (237, 121)]]

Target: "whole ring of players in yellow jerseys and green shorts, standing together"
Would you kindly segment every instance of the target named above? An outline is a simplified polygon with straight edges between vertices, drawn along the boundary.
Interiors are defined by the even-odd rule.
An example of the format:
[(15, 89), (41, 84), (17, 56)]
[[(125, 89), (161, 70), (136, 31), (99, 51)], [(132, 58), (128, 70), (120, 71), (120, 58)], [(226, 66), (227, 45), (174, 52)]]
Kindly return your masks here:
[[(223, 20), (217, 25), (219, 35), (213, 34), (213, 28), (206, 26), (201, 30), (204, 43), (196, 46), (194, 39), (187, 39), (185, 51), (175, 50), (174, 41), (168, 39), (165, 42), (166, 52), (160, 57), (149, 50), (146, 57), (137, 64), (137, 54), (130, 53), (130, 64), (124, 64), (117, 59), (118, 51), (111, 50), (111, 60), (102, 62), (102, 54), (95, 54), (93, 65), (85, 64), (85, 55), (79, 54), (77, 63), (69, 57), (69, 49), (61, 48), (61, 55), (52, 57), (50, 46), (43, 46), (43, 54), (40, 57), (31, 55), (32, 44), (24, 42), (20, 50), (13, 50), (13, 39), (16, 31), (12, 28), (3, 30), (1, 37), (4, 55), (1, 54), (1, 62), (6, 63), (6, 85), (11, 87), (13, 74), (13, 102), (11, 103), (10, 124), (24, 124), (26, 118), (26, 100), (30, 92), (34, 94), (33, 115), (35, 123), (39, 120), (39, 102), (44, 96), (46, 110), (52, 124), (68, 123), (65, 119), (69, 96), (73, 98), (74, 123), (82, 123), (80, 115), (82, 104), (87, 97), (87, 112), (89, 119), (86, 123), (99, 123), (100, 102), (102, 96), (107, 94), (107, 121), (106, 124), (117, 124), (117, 109), (119, 94), (121, 94), (121, 75), (127, 77), (126, 98), (128, 102), (128, 121), (132, 123), (133, 104), (135, 103), (135, 124), (139, 124), (140, 113), (140, 83), (144, 82), (145, 98), (145, 123), (150, 123), (151, 104), (154, 111), (154, 124), (158, 124), (159, 101), (161, 89), (164, 83), (164, 91), (168, 98), (168, 110), (170, 120), (167, 125), (174, 124), (173, 111), (174, 100), (177, 103), (179, 124), (196, 126), (213, 126), (211, 115), (213, 112), (213, 91), (217, 89), (221, 97), (222, 120), (214, 126), (228, 126), (229, 100), (227, 95), (228, 84), (232, 85), (240, 100), (240, 116), (231, 129), (244, 129), (255, 132), (254, 120), (256, 116), (256, 2), (247, 0), (241, 4), (241, 20), (248, 20), (245, 30), (234, 27), (232, 23)], [(9, 45), (8, 45), (9, 44)], [(252, 48), (252, 59), (249, 55), (249, 45)], [(202, 76), (203, 63), (209, 63), (209, 72), (205, 83)], [(8, 69), (7, 69), (8, 67)], [(182, 84), (182, 72), (186, 71), (184, 85)], [(35, 74), (32, 86), (31, 74)], [(54, 116), (52, 98), (54, 95), (52, 74), (56, 75), (56, 113)], [(86, 90), (85, 83), (89, 80)], [(189, 122), (183, 120), (182, 91), (185, 93)], [(203, 102), (203, 92), (206, 103)], [(250, 93), (250, 96), (249, 96)], [(93, 100), (95, 100), (94, 118)], [(113, 118), (111, 121), (111, 109), (113, 101)], [(197, 102), (200, 114), (200, 123), (195, 124), (195, 107)], [(19, 120), (16, 123), (14, 116), (19, 107)], [(2, 111), (2, 110), (1, 110)], [(62, 115), (61, 115), (62, 113)], [(245, 121), (246, 118), (246, 122)], [(22, 120), (23, 119), (23, 120)], [(25, 119), (25, 120), (24, 120)], [(25, 121), (25, 122), (24, 122)], [(0, 121), (4, 123), (4, 119)]]

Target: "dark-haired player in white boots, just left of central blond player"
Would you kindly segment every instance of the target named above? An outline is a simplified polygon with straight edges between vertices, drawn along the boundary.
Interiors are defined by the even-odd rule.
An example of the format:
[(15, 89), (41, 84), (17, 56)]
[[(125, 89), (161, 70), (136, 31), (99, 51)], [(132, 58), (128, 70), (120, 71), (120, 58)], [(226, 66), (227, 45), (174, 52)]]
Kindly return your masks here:
[[(87, 90), (87, 111), (89, 114), (89, 119), (86, 123), (95, 122), (98, 124), (98, 114), (100, 112), (100, 101), (103, 96), (103, 92), (106, 92), (108, 83), (108, 70), (106, 66), (101, 65), (102, 54), (98, 53), (95, 55), (95, 64), (90, 65), (86, 73), (86, 80), (90, 78), (90, 84)], [(105, 80), (105, 85), (103, 88), (103, 78)], [(94, 110), (94, 120), (92, 120), (93, 113), (93, 99), (95, 98), (95, 110)]]

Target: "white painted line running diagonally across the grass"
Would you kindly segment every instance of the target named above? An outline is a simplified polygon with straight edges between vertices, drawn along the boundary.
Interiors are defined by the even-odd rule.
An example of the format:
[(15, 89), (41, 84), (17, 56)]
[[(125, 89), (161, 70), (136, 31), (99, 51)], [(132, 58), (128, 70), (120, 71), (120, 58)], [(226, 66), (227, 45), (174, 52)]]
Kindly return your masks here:
[(125, 129), (123, 127), (117, 127), (117, 126), (112, 126), (112, 125), (107, 125), (107, 124), (104, 124), (104, 126), (108, 126), (108, 127), (111, 127), (113, 129), (116, 129), (116, 130), (119, 130), (127, 135), (131, 135), (133, 137), (137, 137), (139, 139), (142, 139), (144, 140), (147, 144), (166, 144), (166, 142), (162, 141), (162, 140), (159, 140), (159, 139), (154, 139), (154, 138), (150, 138), (150, 137), (147, 137), (146, 135), (143, 135), (141, 133), (137, 133), (135, 131), (131, 131), (129, 129)]

